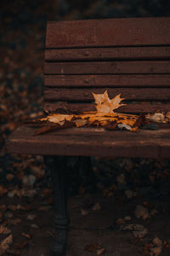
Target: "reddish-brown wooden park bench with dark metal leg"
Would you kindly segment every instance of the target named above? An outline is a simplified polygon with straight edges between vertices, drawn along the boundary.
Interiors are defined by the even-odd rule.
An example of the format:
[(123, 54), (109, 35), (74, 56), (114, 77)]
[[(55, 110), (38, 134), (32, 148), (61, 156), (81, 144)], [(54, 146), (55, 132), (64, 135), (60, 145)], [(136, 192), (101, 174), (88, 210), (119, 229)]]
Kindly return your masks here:
[[(48, 22), (44, 65), (44, 110), (94, 110), (92, 92), (122, 93), (123, 113), (170, 110), (170, 18)], [(170, 157), (169, 126), (157, 131), (103, 131), (69, 128), (34, 136), (21, 125), (8, 137), (9, 153), (42, 154), (54, 175), (54, 255), (67, 244), (67, 170), (90, 169), (90, 156)], [(70, 157), (65, 157), (70, 156)]]

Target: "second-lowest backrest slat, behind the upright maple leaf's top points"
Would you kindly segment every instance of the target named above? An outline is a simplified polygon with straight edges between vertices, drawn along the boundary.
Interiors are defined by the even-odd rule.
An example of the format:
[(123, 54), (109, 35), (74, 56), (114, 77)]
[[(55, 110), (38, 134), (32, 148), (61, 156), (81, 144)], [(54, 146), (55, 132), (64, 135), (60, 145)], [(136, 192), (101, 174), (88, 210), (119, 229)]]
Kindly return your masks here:
[[(44, 99), (46, 101), (94, 101), (93, 92), (97, 94), (104, 93), (107, 88), (94, 89), (57, 89), (46, 88), (44, 90)], [(110, 88), (108, 94), (113, 98), (117, 94), (122, 94), (128, 101), (156, 100), (170, 101), (169, 88)]]

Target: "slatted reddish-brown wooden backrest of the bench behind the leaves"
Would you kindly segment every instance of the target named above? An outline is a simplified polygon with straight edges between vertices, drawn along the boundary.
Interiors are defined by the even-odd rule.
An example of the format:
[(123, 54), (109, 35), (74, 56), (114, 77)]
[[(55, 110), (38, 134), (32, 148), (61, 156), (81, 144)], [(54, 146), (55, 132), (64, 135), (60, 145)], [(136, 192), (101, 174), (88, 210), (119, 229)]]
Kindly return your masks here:
[(44, 110), (94, 110), (119, 93), (124, 113), (170, 110), (170, 18), (48, 22)]

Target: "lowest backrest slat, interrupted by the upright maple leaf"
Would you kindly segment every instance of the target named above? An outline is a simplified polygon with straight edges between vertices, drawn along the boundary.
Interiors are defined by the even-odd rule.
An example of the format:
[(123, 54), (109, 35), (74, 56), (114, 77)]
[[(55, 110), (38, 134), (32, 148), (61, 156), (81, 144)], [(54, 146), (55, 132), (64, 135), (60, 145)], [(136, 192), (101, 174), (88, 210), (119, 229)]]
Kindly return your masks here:
[[(116, 112), (122, 113), (156, 113), (156, 111), (168, 112), (170, 109), (169, 102), (133, 102), (121, 108), (117, 108)], [(66, 109), (69, 112), (86, 112), (95, 111), (94, 103), (70, 103), (70, 102), (45, 102), (43, 109), (47, 112), (53, 112), (57, 109)]]

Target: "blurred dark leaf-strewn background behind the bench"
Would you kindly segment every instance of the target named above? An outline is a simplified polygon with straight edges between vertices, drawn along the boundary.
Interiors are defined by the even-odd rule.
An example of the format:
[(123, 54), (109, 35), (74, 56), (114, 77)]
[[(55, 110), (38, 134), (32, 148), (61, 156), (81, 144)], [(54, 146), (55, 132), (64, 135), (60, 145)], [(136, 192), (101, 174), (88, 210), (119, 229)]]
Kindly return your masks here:
[[(14, 196), (25, 186), (39, 189), (48, 183), (50, 185), (42, 156), (6, 154), (4, 147), (5, 139), (17, 125), (42, 114), (42, 67), (47, 21), (169, 15), (168, 0), (6, 0), (0, 3), (2, 188), (15, 191), (11, 193)], [(168, 160), (93, 159), (93, 164), (100, 189), (115, 184), (114, 189), (121, 190), (121, 193), (128, 188), (156, 196), (170, 192)], [(75, 179), (75, 172), (71, 172), (71, 194), (86, 191), (83, 177)]]

